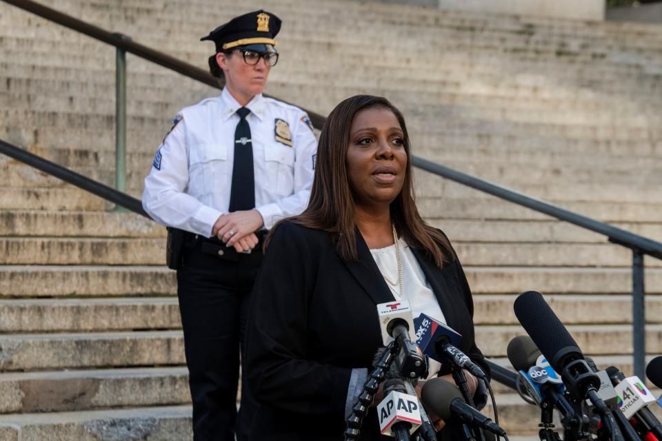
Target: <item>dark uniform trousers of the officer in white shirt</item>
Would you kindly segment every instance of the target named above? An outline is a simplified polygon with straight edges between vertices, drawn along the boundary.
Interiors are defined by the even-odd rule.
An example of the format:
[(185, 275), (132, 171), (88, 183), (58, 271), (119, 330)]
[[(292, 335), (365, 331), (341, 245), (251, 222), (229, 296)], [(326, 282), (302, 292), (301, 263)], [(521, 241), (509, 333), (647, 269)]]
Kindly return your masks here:
[(255, 406), (242, 378), (237, 416), (239, 351), (241, 343), (243, 355), (248, 302), (262, 261), (261, 247), (260, 243), (251, 254), (241, 254), (217, 240), (186, 236), (177, 295), (194, 441), (234, 441), (235, 430), (237, 440), (247, 438)]

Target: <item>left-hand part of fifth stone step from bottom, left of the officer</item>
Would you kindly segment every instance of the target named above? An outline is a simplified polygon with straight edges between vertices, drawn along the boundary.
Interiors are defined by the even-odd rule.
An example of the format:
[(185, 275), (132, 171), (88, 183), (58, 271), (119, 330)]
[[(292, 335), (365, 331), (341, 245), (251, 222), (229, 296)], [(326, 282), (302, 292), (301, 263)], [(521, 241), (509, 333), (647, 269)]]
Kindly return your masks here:
[(173, 294), (176, 273), (165, 266), (0, 266), (1, 298)]

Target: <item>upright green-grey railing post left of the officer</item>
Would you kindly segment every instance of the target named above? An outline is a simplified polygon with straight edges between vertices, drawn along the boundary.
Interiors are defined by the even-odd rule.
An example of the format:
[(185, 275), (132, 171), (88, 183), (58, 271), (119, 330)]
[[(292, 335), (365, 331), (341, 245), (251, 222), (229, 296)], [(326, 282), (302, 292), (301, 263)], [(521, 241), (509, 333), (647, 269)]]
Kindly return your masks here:
[[(130, 40), (123, 34), (115, 34)], [(117, 48), (115, 63), (115, 189), (126, 192), (126, 51)], [(116, 207), (121, 211), (121, 207)]]

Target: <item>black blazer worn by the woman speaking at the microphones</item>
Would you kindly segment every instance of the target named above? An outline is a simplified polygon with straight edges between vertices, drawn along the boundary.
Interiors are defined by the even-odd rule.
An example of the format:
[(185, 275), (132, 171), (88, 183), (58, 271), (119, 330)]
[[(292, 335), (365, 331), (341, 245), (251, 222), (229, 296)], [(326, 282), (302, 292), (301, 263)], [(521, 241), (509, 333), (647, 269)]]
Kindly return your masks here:
[[(343, 439), (352, 368), (372, 369), (382, 346), (375, 305), (394, 301), (358, 230), (357, 248), (359, 259), (350, 262), (327, 232), (289, 222), (274, 232), (246, 330), (246, 375), (259, 402), (251, 441)], [(439, 269), (412, 251), (448, 326), (463, 336), (459, 348), (489, 372), (474, 342), (471, 292), (459, 261)], [(361, 434), (381, 439), (374, 409)]]

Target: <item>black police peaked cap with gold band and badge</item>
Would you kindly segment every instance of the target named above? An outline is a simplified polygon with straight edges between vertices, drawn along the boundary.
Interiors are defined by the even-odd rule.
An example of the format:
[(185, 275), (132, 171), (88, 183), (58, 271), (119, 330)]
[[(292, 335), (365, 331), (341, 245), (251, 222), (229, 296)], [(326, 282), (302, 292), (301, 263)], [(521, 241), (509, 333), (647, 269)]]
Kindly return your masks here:
[(247, 47), (259, 52), (275, 52), (274, 37), (281, 30), (281, 19), (263, 10), (249, 12), (234, 17), (200, 41), (211, 40), (216, 43), (216, 52), (226, 52), (232, 48)]

